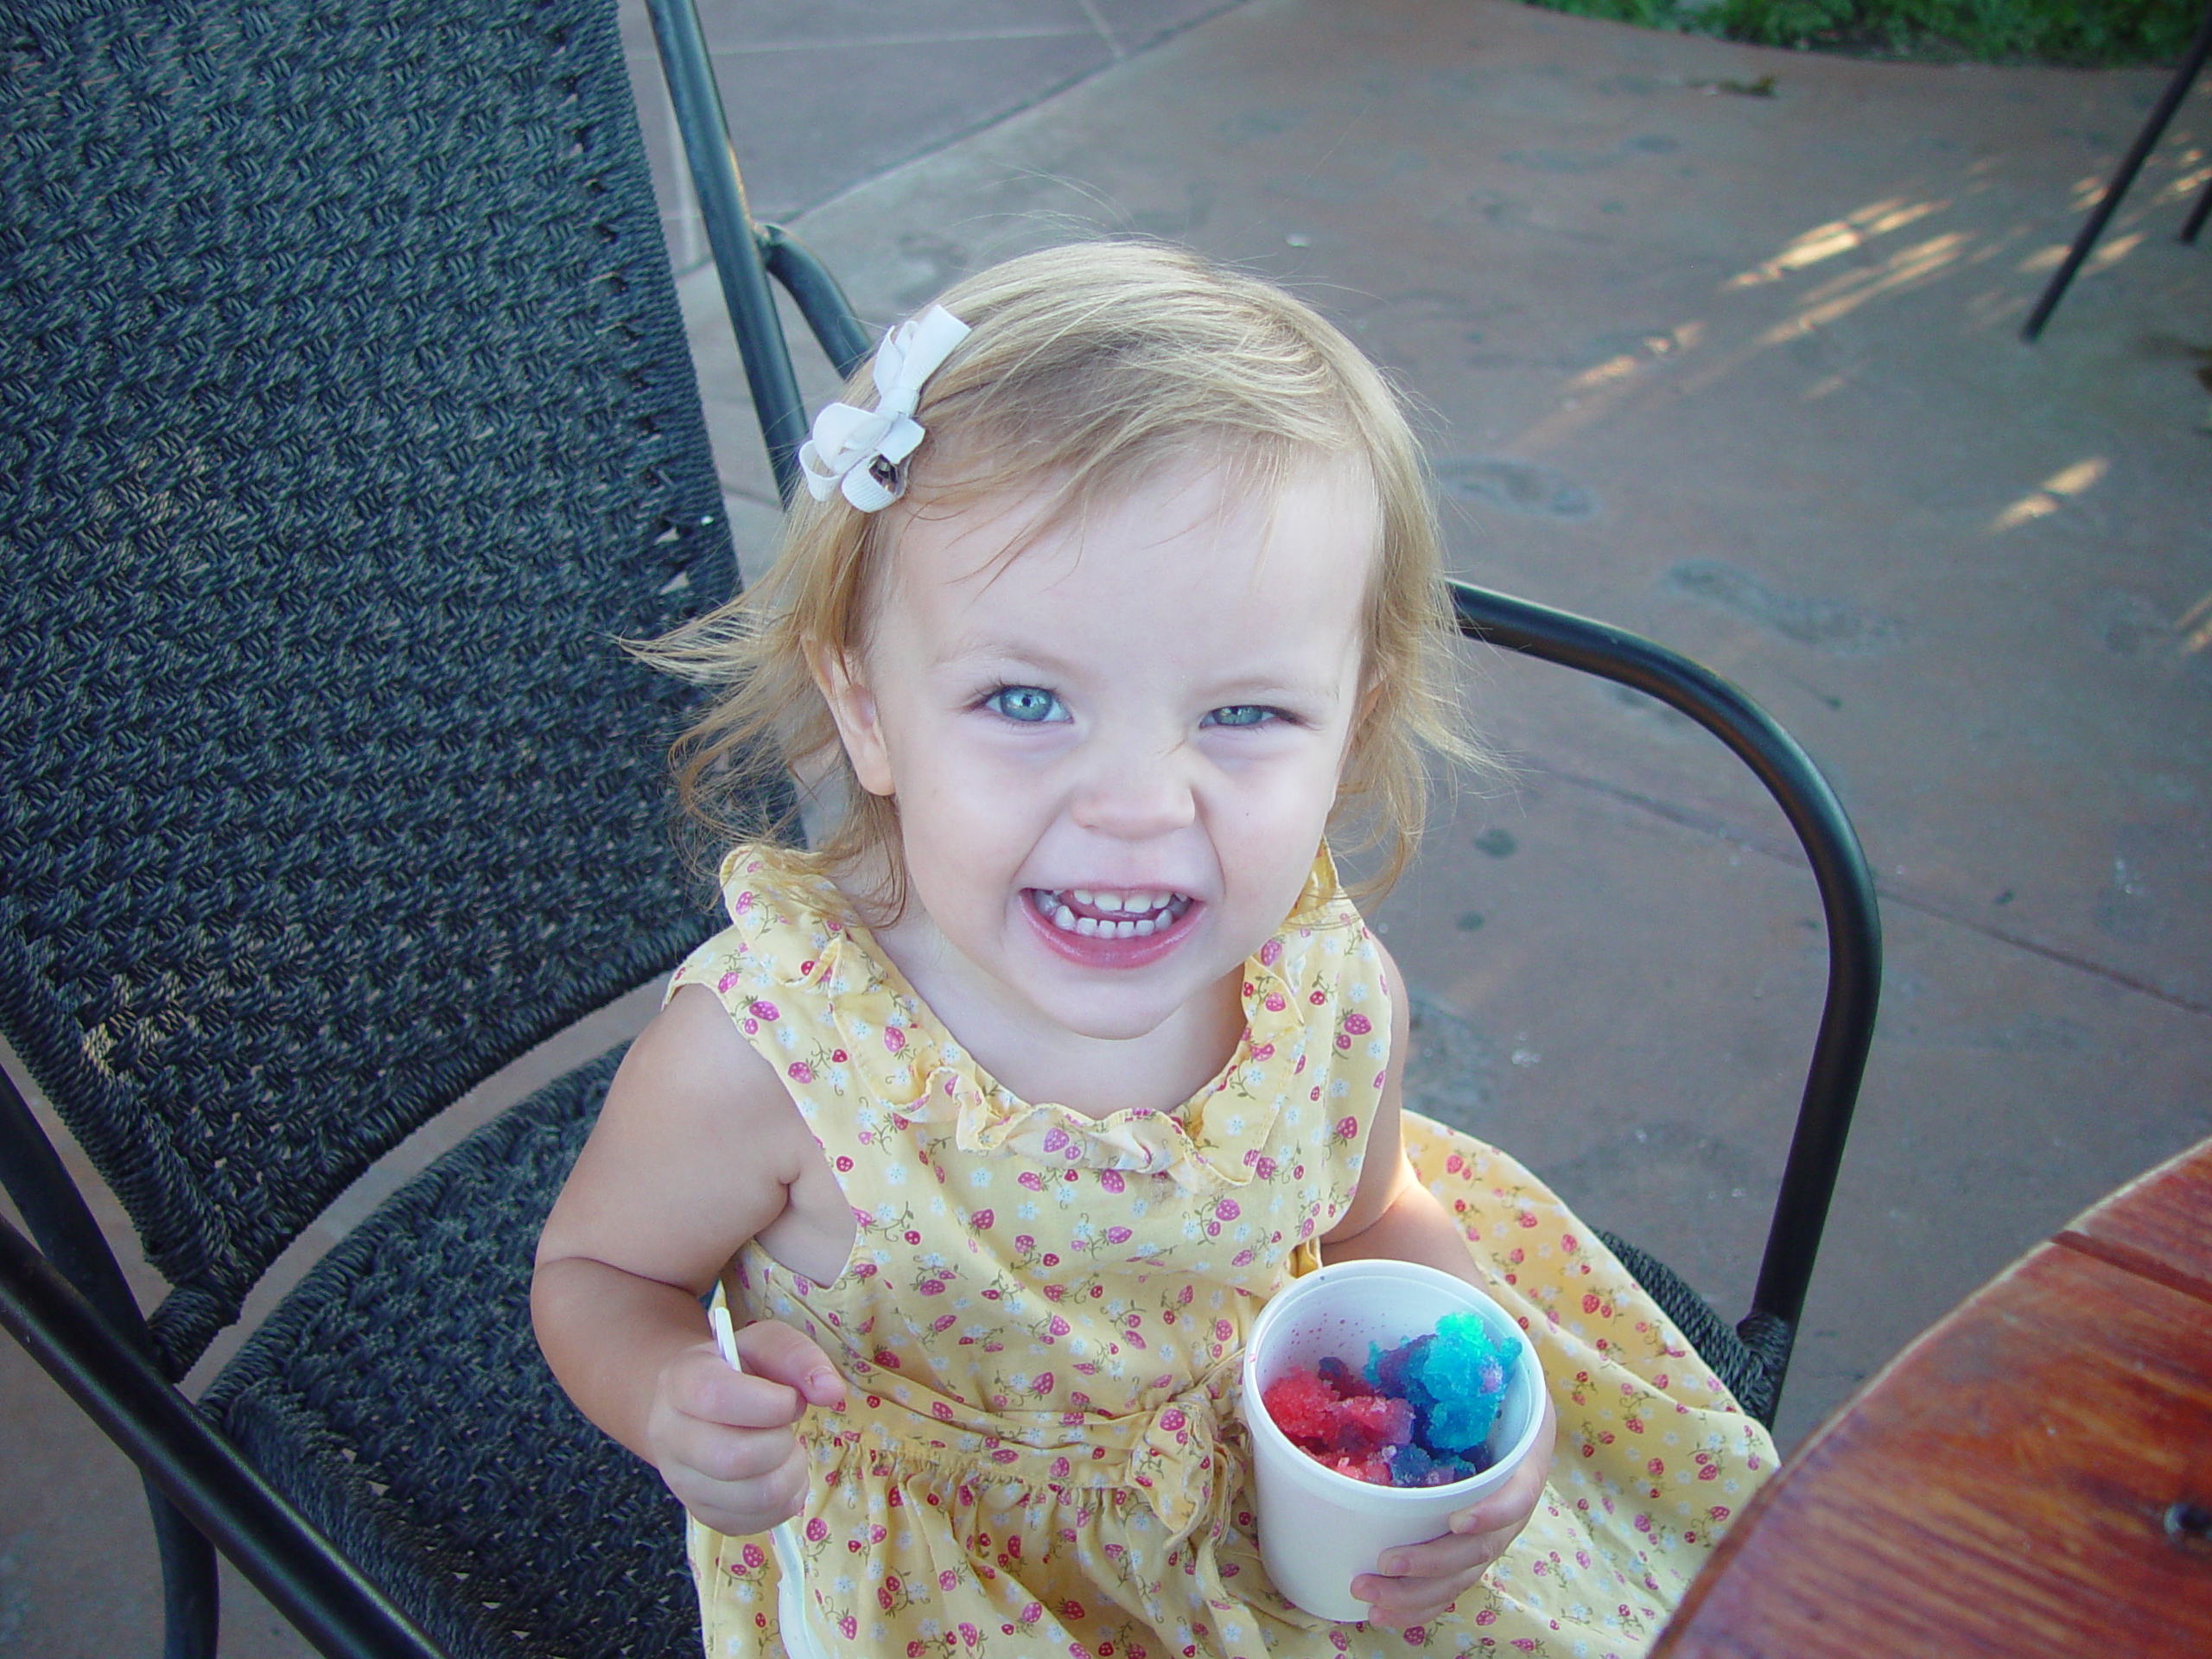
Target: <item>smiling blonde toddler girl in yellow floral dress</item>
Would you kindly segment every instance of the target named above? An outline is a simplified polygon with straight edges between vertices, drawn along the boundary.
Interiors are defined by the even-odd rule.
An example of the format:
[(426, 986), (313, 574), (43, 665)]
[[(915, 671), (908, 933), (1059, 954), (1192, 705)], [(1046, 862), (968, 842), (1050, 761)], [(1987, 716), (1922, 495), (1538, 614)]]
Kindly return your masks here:
[[(1526, 1170), (1400, 1113), (1325, 849), (1396, 874), (1462, 750), (1389, 389), (1265, 283), (1093, 243), (953, 288), (874, 392), (768, 580), (650, 653), (726, 686), (710, 823), (763, 770), (841, 816), (730, 852), (538, 1254), (555, 1374), (690, 1511), (708, 1655), (779, 1650), (785, 1517), (860, 1655), (1644, 1650), (1774, 1449)], [(1261, 1568), (1237, 1367), (1347, 1256), (1515, 1314), (1557, 1460), (1546, 1409), (1338, 1626)]]

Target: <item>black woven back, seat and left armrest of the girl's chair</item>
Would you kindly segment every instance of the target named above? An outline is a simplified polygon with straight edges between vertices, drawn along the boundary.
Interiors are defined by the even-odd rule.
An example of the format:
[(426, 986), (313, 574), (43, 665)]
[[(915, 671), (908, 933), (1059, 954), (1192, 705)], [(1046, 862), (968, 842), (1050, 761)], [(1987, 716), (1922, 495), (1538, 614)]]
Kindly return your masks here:
[(20, 0), (0, 113), (0, 1026), (168, 1283), (9, 1088), (0, 1316), (146, 1471), (177, 1659), (204, 1537), (332, 1655), (697, 1650), (681, 1511), (529, 1329), (613, 1055), (173, 1387), (710, 931), (615, 648), (734, 560), (613, 0)]

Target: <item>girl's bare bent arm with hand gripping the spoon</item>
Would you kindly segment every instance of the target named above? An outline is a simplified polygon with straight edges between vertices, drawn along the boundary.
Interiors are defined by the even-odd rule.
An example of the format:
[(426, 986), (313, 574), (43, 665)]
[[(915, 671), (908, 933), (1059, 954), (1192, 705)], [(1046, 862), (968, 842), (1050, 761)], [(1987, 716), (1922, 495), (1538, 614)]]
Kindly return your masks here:
[(712, 993), (681, 989), (624, 1055), (538, 1239), (531, 1321), (595, 1425), (710, 1526), (750, 1533), (805, 1484), (790, 1425), (843, 1380), (783, 1325), (750, 1327), (752, 1376), (714, 1352), (699, 1296), (748, 1239), (790, 1230), (818, 1150)]

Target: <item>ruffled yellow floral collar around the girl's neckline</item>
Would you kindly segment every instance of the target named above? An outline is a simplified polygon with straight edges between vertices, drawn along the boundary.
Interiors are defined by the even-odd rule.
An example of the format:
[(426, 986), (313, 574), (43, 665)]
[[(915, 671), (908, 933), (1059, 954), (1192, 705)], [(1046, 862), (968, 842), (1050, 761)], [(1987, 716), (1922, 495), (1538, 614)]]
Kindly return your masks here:
[[(894, 1130), (949, 1126), (962, 1152), (1011, 1150), (1042, 1166), (1040, 1181), (1055, 1168), (1099, 1170), (1108, 1186), (1128, 1175), (1166, 1175), (1186, 1192), (1239, 1188), (1261, 1172), (1292, 1077), (1305, 1071), (1310, 1035), (1318, 1035), (1323, 1048), (1329, 1042), (1325, 1026), (1307, 1024), (1307, 1009), (1283, 973), (1285, 951), (1316, 929), (1354, 920), (1323, 847), (1290, 918), (1245, 958), (1245, 1029), (1230, 1062), (1175, 1110), (1091, 1117), (1055, 1102), (1024, 1102), (989, 1077), (827, 878), (799, 867), (790, 854), (743, 849), (726, 867), (732, 920), (748, 920), (743, 909), (759, 885), (776, 889), (792, 920), (812, 922), (818, 947), (781, 980), (790, 991), (823, 998), (852, 1068), (867, 1097), (889, 1110)], [(1301, 1086), (1305, 1082), (1312, 1079)]]

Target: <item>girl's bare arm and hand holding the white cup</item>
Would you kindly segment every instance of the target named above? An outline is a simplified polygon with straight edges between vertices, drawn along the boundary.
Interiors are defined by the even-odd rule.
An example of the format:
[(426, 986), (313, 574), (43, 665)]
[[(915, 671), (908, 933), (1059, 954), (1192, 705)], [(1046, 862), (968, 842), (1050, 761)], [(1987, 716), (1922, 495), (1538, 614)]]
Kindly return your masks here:
[[(1407, 1013), (1405, 980), (1398, 964), (1380, 942), (1383, 971), (1391, 984), (1389, 1011), (1389, 1068), (1383, 1079), (1383, 1099), (1376, 1104), (1374, 1126), (1367, 1130), (1367, 1157), (1360, 1164), (1360, 1181), (1352, 1192), (1352, 1206), (1343, 1219), (1321, 1239), (1325, 1261), (1360, 1261), (1387, 1256), (1391, 1261), (1418, 1261), (1438, 1267), (1455, 1279), (1482, 1290), (1482, 1274), (1469, 1254), (1467, 1237), (1444, 1206), (1413, 1175), (1405, 1159), (1400, 1133), (1400, 1082), (1405, 1077), (1405, 1053), (1411, 1042), (1411, 1020)], [(1493, 1493), (1462, 1509), (1451, 1517), (1451, 1531), (1427, 1544), (1385, 1551), (1376, 1573), (1363, 1573), (1352, 1582), (1352, 1593), (1367, 1601), (1374, 1624), (1407, 1628), (1427, 1617), (1436, 1617), (1453, 1604), (1480, 1577), (1482, 1568), (1506, 1553), (1520, 1531), (1535, 1513), (1544, 1495), (1544, 1480), (1551, 1473), (1555, 1413), (1551, 1396), (1544, 1396), (1544, 1425), (1528, 1458)]]

